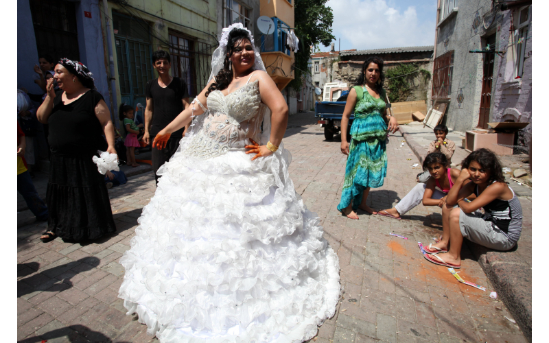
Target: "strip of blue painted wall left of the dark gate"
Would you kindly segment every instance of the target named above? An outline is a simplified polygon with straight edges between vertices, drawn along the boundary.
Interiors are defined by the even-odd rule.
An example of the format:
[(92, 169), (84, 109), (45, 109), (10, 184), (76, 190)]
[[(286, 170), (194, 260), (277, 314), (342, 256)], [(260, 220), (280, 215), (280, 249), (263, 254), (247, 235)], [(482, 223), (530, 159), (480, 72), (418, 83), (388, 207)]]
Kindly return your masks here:
[(34, 75), (38, 75), (32, 69), (34, 64), (38, 64), (38, 49), (29, 0), (17, 0), (17, 86), (41, 94), (42, 89), (34, 83)]

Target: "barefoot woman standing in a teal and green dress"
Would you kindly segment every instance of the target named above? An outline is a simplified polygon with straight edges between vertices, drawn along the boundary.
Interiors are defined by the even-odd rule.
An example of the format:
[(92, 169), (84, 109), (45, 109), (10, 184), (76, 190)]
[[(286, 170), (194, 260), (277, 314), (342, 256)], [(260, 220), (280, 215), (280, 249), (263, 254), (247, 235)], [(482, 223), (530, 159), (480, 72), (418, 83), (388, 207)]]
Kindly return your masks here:
[[(383, 60), (377, 57), (366, 60), (357, 85), (349, 91), (341, 119), (341, 152), (349, 157), (338, 210), (351, 219), (358, 219), (357, 209), (375, 214), (366, 205), (366, 199), (371, 187), (383, 186), (387, 174), (385, 139), (388, 131), (394, 133), (399, 128), (397, 119), (386, 110), (383, 82)], [(353, 108), (355, 119), (349, 143), (347, 128)]]

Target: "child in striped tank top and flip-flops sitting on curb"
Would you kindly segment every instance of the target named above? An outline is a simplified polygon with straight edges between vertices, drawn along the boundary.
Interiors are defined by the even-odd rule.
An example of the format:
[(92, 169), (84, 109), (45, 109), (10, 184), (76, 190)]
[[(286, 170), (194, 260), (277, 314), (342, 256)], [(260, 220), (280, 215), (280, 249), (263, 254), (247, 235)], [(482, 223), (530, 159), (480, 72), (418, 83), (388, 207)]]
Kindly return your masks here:
[[(424, 255), (432, 263), (452, 268), (460, 268), (463, 237), (487, 248), (509, 250), (517, 244), (522, 231), (522, 206), (506, 184), (495, 154), (479, 149), (471, 152), (461, 165), (460, 176), (443, 206), (443, 237), (430, 251), (425, 249), (428, 253)], [(469, 179), (472, 182), (464, 185)], [(476, 199), (465, 202), (463, 199), (471, 194)]]

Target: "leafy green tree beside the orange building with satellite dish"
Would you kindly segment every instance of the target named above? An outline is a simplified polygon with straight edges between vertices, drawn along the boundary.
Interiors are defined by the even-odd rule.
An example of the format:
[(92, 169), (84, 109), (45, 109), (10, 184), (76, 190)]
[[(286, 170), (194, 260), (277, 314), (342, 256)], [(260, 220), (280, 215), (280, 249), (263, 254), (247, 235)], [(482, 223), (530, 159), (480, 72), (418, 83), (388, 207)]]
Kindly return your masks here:
[[(288, 84), (295, 91), (303, 86), (302, 75), (310, 74), (309, 57), (311, 46), (314, 51), (320, 51), (318, 45), (327, 47), (336, 37), (331, 34), (331, 24), (334, 14), (326, 6), (328, 0), (295, 0), (294, 22), (296, 36), (299, 38), (299, 51), (294, 54), (294, 80)], [(302, 44), (303, 43), (303, 44)]]

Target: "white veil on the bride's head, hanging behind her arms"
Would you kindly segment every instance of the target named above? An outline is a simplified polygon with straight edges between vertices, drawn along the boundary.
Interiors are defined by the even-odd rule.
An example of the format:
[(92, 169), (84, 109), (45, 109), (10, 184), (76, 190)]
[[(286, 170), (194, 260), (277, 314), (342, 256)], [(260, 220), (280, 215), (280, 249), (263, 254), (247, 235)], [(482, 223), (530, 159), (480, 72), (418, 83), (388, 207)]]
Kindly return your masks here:
[[(223, 68), (223, 62), (225, 60), (226, 56), (226, 49), (227, 49), (227, 42), (229, 41), (229, 32), (231, 32), (232, 29), (245, 29), (248, 32), (248, 39), (252, 43), (253, 51), (255, 54), (255, 62), (253, 64), (252, 69), (253, 70), (262, 70), (266, 71), (265, 64), (263, 64), (263, 60), (261, 60), (261, 54), (259, 54), (259, 51), (257, 50), (257, 47), (254, 44), (253, 41), (253, 34), (250, 32), (249, 29), (246, 29), (242, 23), (235, 23), (233, 25), (230, 25), (229, 27), (225, 27), (222, 29), (221, 33), (221, 39), (219, 42), (219, 47), (213, 51), (213, 55), (211, 56), (211, 73), (210, 77), (208, 78), (209, 83), (213, 78), (215, 78), (215, 75), (218, 75), (219, 71)], [(194, 101), (193, 101), (194, 103)], [(191, 106), (194, 106), (196, 104), (191, 104)], [(270, 110), (265, 104), (261, 104), (261, 111), (264, 112), (263, 117), (263, 132), (261, 132), (261, 145), (265, 145), (270, 137)], [(199, 116), (191, 116), (191, 118), (194, 118), (191, 121), (191, 125), (189, 126), (189, 129), (187, 130), (187, 134), (185, 134), (185, 137), (193, 137), (197, 132), (200, 131), (202, 128), (202, 123), (204, 122), (205, 118), (207, 118), (209, 115), (209, 111), (207, 110), (203, 115)], [(185, 139), (183, 139), (185, 141)]]

